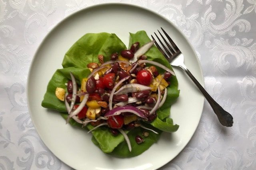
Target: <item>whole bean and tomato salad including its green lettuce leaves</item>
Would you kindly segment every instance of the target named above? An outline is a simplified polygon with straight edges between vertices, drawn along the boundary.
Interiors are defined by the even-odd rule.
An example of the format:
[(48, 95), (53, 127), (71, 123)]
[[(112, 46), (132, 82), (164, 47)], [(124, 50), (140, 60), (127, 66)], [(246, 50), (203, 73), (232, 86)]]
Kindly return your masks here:
[(145, 31), (130, 33), (128, 49), (115, 34), (88, 33), (68, 50), (62, 66), (42, 106), (88, 129), (103, 152), (137, 156), (163, 131), (178, 130), (169, 118), (178, 81)]

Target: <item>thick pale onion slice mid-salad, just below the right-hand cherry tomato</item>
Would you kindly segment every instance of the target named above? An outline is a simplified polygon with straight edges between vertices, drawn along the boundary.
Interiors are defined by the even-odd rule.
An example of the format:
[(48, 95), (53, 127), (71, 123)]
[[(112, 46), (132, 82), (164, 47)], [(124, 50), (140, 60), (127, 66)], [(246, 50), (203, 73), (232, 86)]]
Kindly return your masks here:
[(151, 90), (151, 87), (144, 86), (142, 84), (137, 84), (137, 83), (126, 84), (126, 85), (122, 86), (114, 94), (120, 95), (120, 94), (127, 94), (127, 93), (130, 93), (130, 92), (139, 92), (139, 91), (143, 91), (143, 90)]

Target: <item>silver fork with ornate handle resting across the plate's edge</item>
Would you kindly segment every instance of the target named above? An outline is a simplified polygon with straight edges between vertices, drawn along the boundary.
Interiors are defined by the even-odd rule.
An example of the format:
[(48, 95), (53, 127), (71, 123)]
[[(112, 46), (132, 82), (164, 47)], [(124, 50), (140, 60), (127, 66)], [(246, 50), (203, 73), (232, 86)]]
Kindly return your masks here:
[[(196, 86), (199, 88), (199, 90), (202, 92), (202, 94), (204, 95), (204, 97), (206, 98), (206, 100), (209, 102), (210, 106), (212, 107), (214, 113), (217, 115), (220, 123), (224, 126), (227, 127), (231, 127), (233, 125), (233, 117), (232, 115), (230, 115), (230, 113), (228, 113), (227, 111), (225, 111), (207, 92), (206, 90), (201, 86), (201, 84), (196, 80), (196, 78), (192, 75), (192, 73), (188, 70), (188, 68), (185, 66), (184, 64), (184, 56), (181, 53), (180, 49), (178, 49), (177, 45), (172, 41), (172, 39), (170, 38), (170, 36), (166, 33), (166, 31), (164, 31), (164, 29), (161, 27), (164, 35), (167, 37), (167, 39), (169, 40), (170, 43), (168, 43), (166, 41), (166, 39), (164, 38), (164, 36), (160, 33), (159, 30), (158, 33), (160, 34), (160, 36), (162, 37), (162, 39), (164, 40), (164, 43), (166, 44), (166, 46), (164, 45), (164, 43), (162, 43), (162, 41), (160, 40), (160, 38), (158, 37), (158, 35), (154, 32), (154, 34), (156, 35), (156, 38), (158, 39), (158, 41), (160, 42), (160, 44), (162, 45), (162, 47), (164, 48), (164, 50), (166, 51), (166, 53), (164, 52), (164, 50), (159, 46), (159, 44), (156, 42), (156, 40), (154, 39), (154, 37), (151, 35), (152, 39), (155, 41), (155, 45), (156, 47), (160, 50), (160, 52), (164, 55), (164, 57), (169, 61), (169, 63), (172, 66), (178, 66), (180, 68), (182, 68), (182, 70), (184, 70), (186, 72), (186, 74), (188, 74), (188, 76), (192, 79), (192, 81), (196, 84)], [(171, 45), (172, 46), (171, 46)], [(168, 50), (168, 49), (169, 50)]]

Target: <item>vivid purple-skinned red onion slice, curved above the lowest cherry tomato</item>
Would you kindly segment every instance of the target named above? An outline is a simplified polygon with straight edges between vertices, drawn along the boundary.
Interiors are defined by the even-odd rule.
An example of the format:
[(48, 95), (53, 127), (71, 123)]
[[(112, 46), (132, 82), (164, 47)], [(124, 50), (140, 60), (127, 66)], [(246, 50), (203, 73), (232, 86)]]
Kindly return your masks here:
[(114, 115), (120, 115), (123, 112), (130, 112), (130, 113), (134, 113), (135, 115), (142, 117), (144, 119), (147, 119), (147, 117), (142, 113), (142, 111), (140, 111), (140, 109), (134, 107), (134, 106), (118, 106), (115, 107), (114, 109), (108, 111), (104, 117), (110, 117), (110, 116), (114, 116)]

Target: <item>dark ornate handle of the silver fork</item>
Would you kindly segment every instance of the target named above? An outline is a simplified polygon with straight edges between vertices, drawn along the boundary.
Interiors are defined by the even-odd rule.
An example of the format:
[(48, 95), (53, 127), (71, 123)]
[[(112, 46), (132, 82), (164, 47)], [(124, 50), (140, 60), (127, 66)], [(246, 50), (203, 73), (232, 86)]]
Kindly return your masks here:
[(185, 65), (181, 65), (180, 68), (182, 68), (186, 74), (191, 78), (191, 80), (196, 84), (196, 86), (199, 88), (199, 90), (202, 92), (206, 100), (209, 102), (210, 106), (212, 107), (214, 113), (217, 115), (220, 123), (224, 126), (231, 127), (233, 125), (233, 117), (225, 111), (207, 92), (206, 90), (201, 86), (201, 84), (196, 80), (196, 78), (193, 76), (193, 74), (186, 68)]

